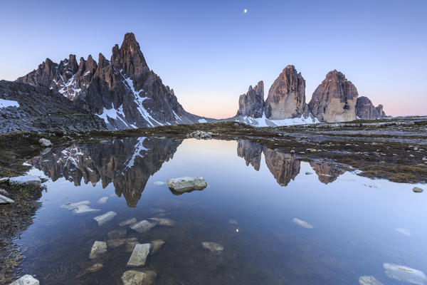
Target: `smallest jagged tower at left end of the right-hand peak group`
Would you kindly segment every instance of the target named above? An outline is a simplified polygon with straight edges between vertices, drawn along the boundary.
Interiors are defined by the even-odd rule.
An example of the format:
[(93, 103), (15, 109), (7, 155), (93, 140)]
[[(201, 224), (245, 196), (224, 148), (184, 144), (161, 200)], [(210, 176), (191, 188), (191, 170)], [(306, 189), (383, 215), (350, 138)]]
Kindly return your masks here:
[(264, 115), (264, 83), (258, 82), (255, 88), (249, 86), (246, 94), (238, 98), (237, 115), (262, 118)]

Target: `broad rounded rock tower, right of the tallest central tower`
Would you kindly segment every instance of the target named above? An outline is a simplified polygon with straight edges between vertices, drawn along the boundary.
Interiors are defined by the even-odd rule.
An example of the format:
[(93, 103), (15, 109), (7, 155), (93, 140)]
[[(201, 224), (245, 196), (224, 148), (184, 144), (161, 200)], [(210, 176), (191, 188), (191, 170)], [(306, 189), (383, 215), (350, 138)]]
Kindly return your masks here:
[(351, 81), (339, 71), (330, 71), (312, 95), (308, 108), (321, 122), (335, 123), (356, 120), (359, 94)]

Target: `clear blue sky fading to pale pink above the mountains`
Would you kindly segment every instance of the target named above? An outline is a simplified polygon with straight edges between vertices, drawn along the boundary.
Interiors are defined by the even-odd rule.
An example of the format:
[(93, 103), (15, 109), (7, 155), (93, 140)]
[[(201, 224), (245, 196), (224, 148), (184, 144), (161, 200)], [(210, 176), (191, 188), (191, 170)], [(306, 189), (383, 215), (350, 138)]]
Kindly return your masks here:
[[(247, 9), (247, 13), (244, 13)], [(388, 115), (427, 115), (427, 1), (2, 1), (0, 79), (74, 53), (107, 58), (135, 33), (149, 64), (197, 115), (236, 115), (288, 64), (307, 102), (337, 69)]]

